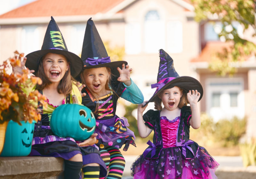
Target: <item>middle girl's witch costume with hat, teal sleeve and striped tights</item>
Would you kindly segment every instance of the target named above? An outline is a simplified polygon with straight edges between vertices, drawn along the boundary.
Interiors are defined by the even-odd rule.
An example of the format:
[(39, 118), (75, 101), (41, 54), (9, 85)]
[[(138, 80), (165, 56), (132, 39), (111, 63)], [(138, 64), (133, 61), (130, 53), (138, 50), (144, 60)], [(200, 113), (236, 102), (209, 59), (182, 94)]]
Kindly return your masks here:
[[(96, 113), (94, 113), (96, 118), (94, 133), (98, 134), (96, 136), (96, 145), (99, 147), (107, 167), (109, 161), (111, 161), (108, 177), (121, 178), (125, 161), (119, 149), (123, 144), (125, 144), (124, 151), (127, 151), (130, 144), (135, 146), (135, 136), (127, 128), (129, 126), (127, 119), (119, 118), (116, 115), (117, 100), (119, 97), (122, 97), (134, 104), (140, 104), (144, 98), (140, 89), (132, 80), (130, 86), (117, 81), (120, 74), (116, 68), (120, 67), (122, 69), (122, 64), (127, 65), (127, 62), (110, 61), (110, 57), (108, 57), (108, 53), (92, 19), (87, 21), (81, 58), (84, 61), (83, 70), (99, 67), (111, 68), (113, 76), (111, 82), (109, 82), (109, 87), (112, 91), (105, 96), (94, 99), (89, 89), (85, 88), (82, 90), (82, 93), (86, 93), (86, 96), (82, 98), (82, 104), (91, 109), (92, 112), (97, 109)], [(99, 103), (98, 106), (97, 103)]]

